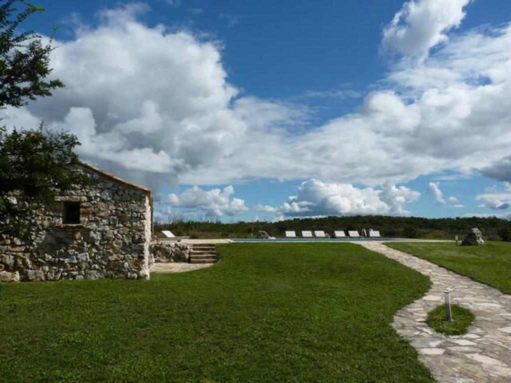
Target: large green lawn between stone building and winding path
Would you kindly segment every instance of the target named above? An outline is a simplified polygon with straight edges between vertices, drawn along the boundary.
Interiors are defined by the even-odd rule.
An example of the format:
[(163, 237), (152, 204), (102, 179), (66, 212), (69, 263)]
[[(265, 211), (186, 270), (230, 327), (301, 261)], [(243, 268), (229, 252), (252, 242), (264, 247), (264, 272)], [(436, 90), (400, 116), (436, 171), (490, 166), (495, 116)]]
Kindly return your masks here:
[(219, 251), (150, 281), (0, 285), (0, 380), (433, 382), (390, 326), (428, 278), (352, 244)]

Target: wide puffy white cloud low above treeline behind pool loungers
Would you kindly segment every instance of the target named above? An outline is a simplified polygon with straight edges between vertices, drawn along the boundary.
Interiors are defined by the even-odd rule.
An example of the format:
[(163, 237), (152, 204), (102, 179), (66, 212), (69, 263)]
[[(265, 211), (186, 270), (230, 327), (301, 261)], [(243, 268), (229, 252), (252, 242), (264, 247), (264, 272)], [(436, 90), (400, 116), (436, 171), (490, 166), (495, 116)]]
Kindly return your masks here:
[(407, 187), (387, 184), (383, 189), (358, 188), (351, 184), (311, 179), (301, 183), (296, 196), (280, 207), (272, 207), (279, 217), (337, 216), (355, 214), (409, 213), (406, 204), (420, 197)]

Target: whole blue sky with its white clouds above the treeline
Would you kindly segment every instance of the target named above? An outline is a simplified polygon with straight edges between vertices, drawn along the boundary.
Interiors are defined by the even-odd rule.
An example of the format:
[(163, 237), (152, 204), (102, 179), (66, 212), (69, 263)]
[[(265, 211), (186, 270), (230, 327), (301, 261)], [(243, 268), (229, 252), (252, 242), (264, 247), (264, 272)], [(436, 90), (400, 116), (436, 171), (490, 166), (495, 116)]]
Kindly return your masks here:
[(74, 132), (161, 218), (511, 211), (507, 1), (36, 4), (66, 89), (4, 119)]

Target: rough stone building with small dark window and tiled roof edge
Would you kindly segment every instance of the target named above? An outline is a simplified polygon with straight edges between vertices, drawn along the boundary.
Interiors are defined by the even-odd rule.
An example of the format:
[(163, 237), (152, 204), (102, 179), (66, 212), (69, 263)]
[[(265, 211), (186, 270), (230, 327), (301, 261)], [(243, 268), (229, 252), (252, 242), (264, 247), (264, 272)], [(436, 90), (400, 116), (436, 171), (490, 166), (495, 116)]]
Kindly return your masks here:
[(149, 278), (151, 191), (87, 164), (74, 171), (91, 182), (27, 206), (22, 238), (0, 236), (0, 281)]

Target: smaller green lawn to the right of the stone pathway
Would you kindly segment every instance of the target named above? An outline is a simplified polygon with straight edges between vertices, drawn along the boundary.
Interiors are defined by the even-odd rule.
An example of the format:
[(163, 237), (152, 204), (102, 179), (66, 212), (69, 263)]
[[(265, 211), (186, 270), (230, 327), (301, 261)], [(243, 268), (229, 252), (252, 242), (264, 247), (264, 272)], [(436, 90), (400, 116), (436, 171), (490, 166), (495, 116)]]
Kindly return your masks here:
[(456, 246), (454, 243), (389, 242), (385, 245), (511, 294), (511, 243)]

